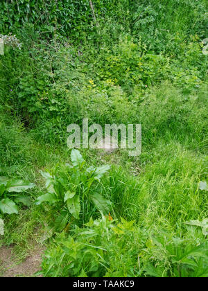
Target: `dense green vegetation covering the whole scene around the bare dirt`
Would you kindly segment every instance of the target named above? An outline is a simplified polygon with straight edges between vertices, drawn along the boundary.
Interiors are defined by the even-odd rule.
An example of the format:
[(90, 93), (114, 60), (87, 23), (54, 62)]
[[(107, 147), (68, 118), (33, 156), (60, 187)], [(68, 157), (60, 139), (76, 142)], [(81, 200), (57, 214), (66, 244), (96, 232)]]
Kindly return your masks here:
[[(44, 244), (43, 276), (208, 276), (207, 8), (1, 1), (0, 245)], [(83, 118), (141, 123), (141, 155), (69, 150)]]

